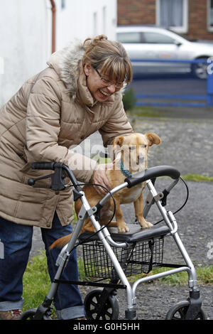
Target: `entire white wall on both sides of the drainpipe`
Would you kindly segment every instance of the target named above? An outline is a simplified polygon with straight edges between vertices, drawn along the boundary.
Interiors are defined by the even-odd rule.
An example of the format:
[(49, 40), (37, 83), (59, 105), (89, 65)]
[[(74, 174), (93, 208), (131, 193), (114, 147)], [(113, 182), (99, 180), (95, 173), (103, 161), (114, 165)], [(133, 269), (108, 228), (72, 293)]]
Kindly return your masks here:
[[(75, 39), (105, 33), (115, 39), (116, 0), (55, 0), (56, 50)], [(51, 53), (49, 0), (0, 0), (0, 107)], [(3, 66), (4, 65), (4, 66)]]

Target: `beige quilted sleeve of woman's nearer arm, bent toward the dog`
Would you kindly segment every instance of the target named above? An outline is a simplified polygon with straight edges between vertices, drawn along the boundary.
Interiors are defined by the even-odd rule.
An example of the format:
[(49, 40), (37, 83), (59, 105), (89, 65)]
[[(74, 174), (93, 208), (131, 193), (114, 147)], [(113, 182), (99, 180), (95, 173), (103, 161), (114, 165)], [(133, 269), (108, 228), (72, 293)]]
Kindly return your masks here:
[(26, 116), (26, 156), (28, 163), (65, 163), (83, 182), (92, 178), (96, 161), (58, 144), (60, 134), (60, 90), (51, 77), (38, 80), (28, 99)]

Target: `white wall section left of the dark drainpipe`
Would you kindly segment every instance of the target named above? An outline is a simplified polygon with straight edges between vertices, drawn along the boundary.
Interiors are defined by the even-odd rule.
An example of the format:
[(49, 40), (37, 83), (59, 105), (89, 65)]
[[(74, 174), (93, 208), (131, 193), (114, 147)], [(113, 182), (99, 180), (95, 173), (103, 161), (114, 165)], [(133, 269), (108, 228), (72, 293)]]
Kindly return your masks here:
[(50, 39), (47, 10), (43, 0), (0, 0), (0, 57), (4, 60), (0, 107), (45, 66)]

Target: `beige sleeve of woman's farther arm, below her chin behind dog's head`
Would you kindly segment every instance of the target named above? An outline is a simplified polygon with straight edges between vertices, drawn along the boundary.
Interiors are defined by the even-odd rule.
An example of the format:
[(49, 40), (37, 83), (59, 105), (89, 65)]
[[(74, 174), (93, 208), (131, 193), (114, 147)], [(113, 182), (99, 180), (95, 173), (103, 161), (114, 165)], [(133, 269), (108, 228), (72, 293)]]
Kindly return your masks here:
[(115, 95), (115, 102), (109, 119), (99, 129), (99, 133), (102, 135), (103, 144), (105, 147), (112, 145), (116, 136), (131, 134), (133, 129), (124, 110), (124, 104), (122, 102), (122, 95), (120, 93)]

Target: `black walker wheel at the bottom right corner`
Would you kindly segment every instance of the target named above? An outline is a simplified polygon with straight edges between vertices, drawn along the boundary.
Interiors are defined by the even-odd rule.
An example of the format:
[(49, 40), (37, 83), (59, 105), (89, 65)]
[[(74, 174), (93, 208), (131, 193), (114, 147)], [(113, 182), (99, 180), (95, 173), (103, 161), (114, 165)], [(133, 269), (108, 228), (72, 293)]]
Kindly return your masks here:
[[(180, 301), (173, 305), (165, 316), (166, 320), (185, 320), (185, 316), (187, 313), (187, 308), (190, 305), (190, 301)], [(200, 308), (200, 312), (197, 314), (196, 318), (193, 320), (206, 320), (207, 316)]]

